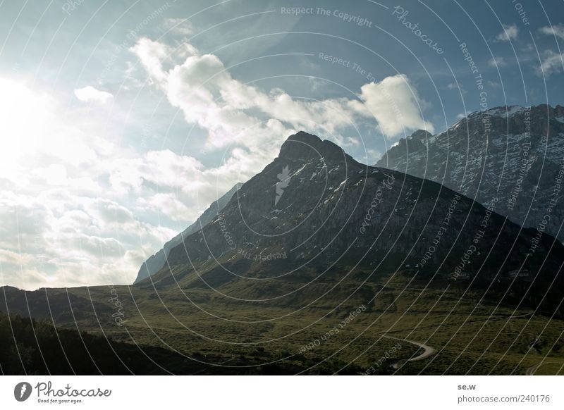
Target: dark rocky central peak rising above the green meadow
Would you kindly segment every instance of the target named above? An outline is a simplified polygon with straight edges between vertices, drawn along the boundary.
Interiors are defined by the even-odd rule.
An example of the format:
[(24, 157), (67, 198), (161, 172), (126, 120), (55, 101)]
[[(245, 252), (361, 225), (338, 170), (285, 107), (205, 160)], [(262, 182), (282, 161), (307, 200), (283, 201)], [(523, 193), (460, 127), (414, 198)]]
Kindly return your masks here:
[(350, 274), (362, 284), (407, 271), (443, 283), (513, 286), (513, 296), (530, 303), (549, 292), (544, 303), (554, 307), (560, 293), (549, 285), (556, 276), (562, 282), (563, 245), (488, 206), (436, 182), (358, 163), (336, 144), (299, 132), (210, 223), (171, 249), (152, 283), (139, 285), (202, 288), (218, 299), (288, 292), (299, 306), (315, 296), (305, 287), (315, 278)]

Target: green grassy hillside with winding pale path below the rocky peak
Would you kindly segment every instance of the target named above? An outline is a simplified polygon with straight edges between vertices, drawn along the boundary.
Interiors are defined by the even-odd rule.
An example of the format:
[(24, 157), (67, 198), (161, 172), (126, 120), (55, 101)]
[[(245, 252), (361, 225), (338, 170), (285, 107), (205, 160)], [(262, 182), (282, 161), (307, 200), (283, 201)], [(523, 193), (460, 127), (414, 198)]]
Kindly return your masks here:
[[(104, 358), (111, 356), (107, 351), (114, 347), (114, 356), (138, 364), (133, 373), (525, 374), (527, 369), (535, 374), (564, 373), (564, 321), (551, 318), (549, 312), (498, 304), (488, 294), (477, 303), (484, 296), (480, 288), (429, 282), (409, 271), (364, 284), (359, 275), (337, 283), (319, 280), (307, 287), (309, 296), (317, 297), (300, 294), (295, 304), (286, 298), (278, 306), (272, 300), (245, 302), (189, 285), (164, 290), (149, 286), (38, 290), (25, 292), (25, 297), (23, 291), (4, 288), (0, 299), (6, 294), (6, 300), (0, 306), (7, 303), (12, 314), (71, 329), (63, 330), (71, 332), (63, 333), (68, 335), (63, 348), (82, 352), (75, 359), (81, 366), (88, 359), (77, 337), (78, 331), (86, 331), (94, 361), (102, 358), (105, 363)], [(274, 297), (267, 283), (249, 287), (246, 296)], [(288, 281), (286, 286), (290, 290), (295, 283)], [(229, 291), (235, 290), (228, 284), (221, 287), (221, 292)], [(281, 282), (276, 292), (283, 291)], [(8, 334), (5, 317), (3, 323), (2, 340)], [(46, 325), (39, 329), (42, 326)], [(30, 326), (27, 333), (25, 346), (37, 349)], [(49, 346), (55, 346), (49, 337)], [(16, 340), (20, 342), (20, 337)], [(425, 349), (417, 343), (434, 352), (419, 359)], [(49, 349), (48, 356), (54, 351)], [(152, 360), (166, 370), (152, 365)], [(13, 373), (6, 370), (13, 367), (4, 367), (4, 362), (2, 366), (5, 373)], [(81, 373), (96, 372), (92, 364), (79, 368)], [(106, 369), (102, 373), (112, 372), (101, 368)]]

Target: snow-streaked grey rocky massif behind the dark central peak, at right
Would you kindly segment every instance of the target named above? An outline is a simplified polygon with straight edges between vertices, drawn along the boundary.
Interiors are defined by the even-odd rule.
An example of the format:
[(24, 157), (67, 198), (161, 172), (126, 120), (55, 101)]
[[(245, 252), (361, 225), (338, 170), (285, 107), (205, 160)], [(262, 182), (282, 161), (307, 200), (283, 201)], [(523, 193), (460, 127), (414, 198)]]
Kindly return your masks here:
[(414, 132), (376, 166), (495, 201), (496, 213), (564, 242), (563, 160), (563, 106), (503, 106), (472, 113), (439, 135)]

